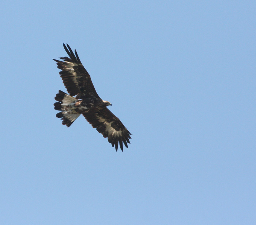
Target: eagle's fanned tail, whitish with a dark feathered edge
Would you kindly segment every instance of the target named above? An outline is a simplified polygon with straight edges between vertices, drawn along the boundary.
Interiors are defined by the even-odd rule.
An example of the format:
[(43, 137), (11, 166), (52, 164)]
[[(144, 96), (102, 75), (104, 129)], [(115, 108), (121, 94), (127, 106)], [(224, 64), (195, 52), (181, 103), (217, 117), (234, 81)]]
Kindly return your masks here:
[(56, 117), (61, 118), (62, 124), (69, 127), (80, 116), (80, 113), (74, 110), (74, 105), (78, 100), (61, 90), (54, 99), (58, 101), (54, 103), (54, 109), (62, 111), (57, 113)]

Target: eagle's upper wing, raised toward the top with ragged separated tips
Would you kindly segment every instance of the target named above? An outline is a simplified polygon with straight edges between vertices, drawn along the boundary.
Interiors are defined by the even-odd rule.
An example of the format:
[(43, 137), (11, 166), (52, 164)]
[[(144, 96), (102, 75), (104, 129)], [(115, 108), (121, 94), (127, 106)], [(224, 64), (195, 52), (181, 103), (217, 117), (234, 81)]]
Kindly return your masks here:
[(70, 58), (60, 57), (64, 62), (56, 59), (53, 60), (57, 62), (58, 68), (61, 69), (60, 77), (62, 78), (68, 93), (71, 96), (77, 95), (77, 99), (87, 96), (99, 98), (93, 86), (93, 82), (91, 81), (91, 77), (86, 69), (84, 69), (76, 50), (74, 54), (68, 44), (68, 48), (64, 43), (63, 47)]

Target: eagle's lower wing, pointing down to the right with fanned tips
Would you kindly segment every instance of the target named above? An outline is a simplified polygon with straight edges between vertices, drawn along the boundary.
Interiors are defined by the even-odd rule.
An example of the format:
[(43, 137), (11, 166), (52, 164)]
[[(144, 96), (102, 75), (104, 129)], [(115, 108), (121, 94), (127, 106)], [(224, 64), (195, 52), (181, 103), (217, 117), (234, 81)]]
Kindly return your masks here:
[(108, 137), (112, 147), (118, 148), (118, 143), (123, 151), (123, 143), (128, 148), (127, 143), (130, 143), (131, 133), (125, 128), (124, 124), (106, 107), (90, 110), (82, 113), (86, 120), (96, 128), (103, 137)]

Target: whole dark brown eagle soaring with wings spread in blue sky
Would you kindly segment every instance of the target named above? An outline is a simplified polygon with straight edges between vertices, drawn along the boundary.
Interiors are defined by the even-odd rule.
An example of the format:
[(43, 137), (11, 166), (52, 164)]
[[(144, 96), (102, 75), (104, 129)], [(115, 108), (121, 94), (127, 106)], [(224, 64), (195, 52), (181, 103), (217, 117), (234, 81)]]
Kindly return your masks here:
[(82, 65), (76, 50), (74, 54), (68, 44), (65, 46), (63, 43), (63, 47), (69, 58), (60, 57), (63, 61), (53, 60), (61, 70), (59, 74), (68, 94), (61, 90), (56, 94), (57, 102), (54, 103), (54, 109), (61, 111), (56, 114), (56, 117), (63, 120), (63, 125), (70, 127), (82, 114), (103, 137), (108, 137), (109, 143), (112, 147), (115, 146), (116, 151), (118, 143), (122, 151), (123, 144), (128, 148), (127, 143), (130, 143), (131, 133), (107, 108), (112, 104), (98, 96), (91, 77)]

